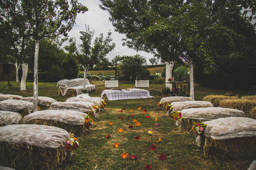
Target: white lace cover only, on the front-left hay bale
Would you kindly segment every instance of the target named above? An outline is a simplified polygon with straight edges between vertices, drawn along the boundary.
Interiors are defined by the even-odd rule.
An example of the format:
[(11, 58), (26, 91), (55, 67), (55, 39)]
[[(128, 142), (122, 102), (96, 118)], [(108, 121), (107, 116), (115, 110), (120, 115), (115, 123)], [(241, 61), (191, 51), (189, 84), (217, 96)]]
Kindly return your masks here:
[(68, 137), (68, 132), (64, 129), (48, 125), (22, 124), (0, 127), (0, 142), (58, 148), (65, 145)]

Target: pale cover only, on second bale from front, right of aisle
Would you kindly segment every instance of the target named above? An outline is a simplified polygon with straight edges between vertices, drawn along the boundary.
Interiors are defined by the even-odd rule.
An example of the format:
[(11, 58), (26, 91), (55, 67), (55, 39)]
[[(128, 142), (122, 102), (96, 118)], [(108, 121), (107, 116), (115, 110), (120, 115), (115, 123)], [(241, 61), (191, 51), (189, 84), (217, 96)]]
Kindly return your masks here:
[(241, 110), (210, 107), (210, 108), (189, 108), (181, 111), (182, 118), (196, 120), (212, 120), (221, 117), (244, 117)]

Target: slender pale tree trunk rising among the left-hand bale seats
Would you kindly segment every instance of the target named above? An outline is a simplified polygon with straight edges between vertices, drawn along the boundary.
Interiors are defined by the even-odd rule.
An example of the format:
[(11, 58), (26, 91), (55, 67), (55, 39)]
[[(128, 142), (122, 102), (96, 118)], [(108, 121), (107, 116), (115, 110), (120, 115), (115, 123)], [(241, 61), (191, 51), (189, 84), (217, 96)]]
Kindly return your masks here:
[(35, 40), (35, 59), (34, 59), (34, 101), (33, 112), (37, 111), (38, 104), (38, 55), (39, 55), (39, 40)]

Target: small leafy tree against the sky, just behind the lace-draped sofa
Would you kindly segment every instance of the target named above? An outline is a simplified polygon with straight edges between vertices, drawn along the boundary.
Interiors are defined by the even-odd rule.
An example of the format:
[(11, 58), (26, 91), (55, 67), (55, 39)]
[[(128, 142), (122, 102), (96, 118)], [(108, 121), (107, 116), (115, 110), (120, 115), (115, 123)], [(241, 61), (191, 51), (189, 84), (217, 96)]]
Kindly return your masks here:
[[(79, 64), (84, 69), (84, 82), (89, 67), (93, 67), (101, 60), (104, 60), (106, 55), (115, 48), (115, 43), (112, 43), (111, 32), (108, 32), (108, 36), (104, 38), (103, 33), (99, 37), (95, 38), (93, 46), (92, 38), (94, 31), (90, 31), (90, 27), (85, 25), (85, 31), (80, 31), (80, 39), (82, 44), (80, 46), (80, 52), (77, 55)], [(85, 83), (84, 83), (85, 88)]]

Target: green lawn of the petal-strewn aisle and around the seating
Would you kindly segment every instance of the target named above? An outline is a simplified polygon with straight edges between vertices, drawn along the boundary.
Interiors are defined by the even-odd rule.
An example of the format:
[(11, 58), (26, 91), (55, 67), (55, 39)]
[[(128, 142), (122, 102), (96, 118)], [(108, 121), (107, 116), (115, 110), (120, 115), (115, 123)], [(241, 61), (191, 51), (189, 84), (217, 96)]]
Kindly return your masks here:
[[(97, 84), (96, 91), (90, 96), (100, 96), (104, 90), (104, 84), (99, 81), (92, 81)], [(19, 83), (11, 82), (19, 89)], [(0, 89), (6, 82), (0, 83)], [(134, 88), (134, 84), (120, 84), (120, 88)], [(148, 90), (159, 90), (164, 85), (150, 85)], [(27, 83), (26, 92), (13, 92), (4, 89), (3, 94), (17, 94), (20, 96), (33, 96), (33, 83)], [(57, 101), (65, 101), (68, 97), (58, 96), (56, 83), (39, 83), (39, 96), (48, 96)], [(209, 89), (195, 85), (195, 98), (201, 100), (209, 94), (225, 94), (231, 92), (237, 96), (255, 95), (256, 88), (245, 90), (220, 90)], [(72, 159), (63, 163), (58, 169), (145, 169), (146, 164), (151, 164), (152, 169), (247, 169), (252, 160), (221, 160), (217, 158), (206, 159), (202, 148), (195, 145), (194, 134), (177, 131), (175, 121), (166, 117), (166, 111), (158, 110), (156, 104), (162, 96), (149, 99), (130, 99), (120, 101), (107, 101), (106, 111), (100, 113), (98, 120), (90, 128), (87, 136), (78, 138), (80, 146), (74, 153)], [(138, 108), (147, 109), (143, 114)], [(124, 111), (120, 112), (121, 109)], [(133, 109), (134, 111), (130, 112)], [(134, 116), (132, 117), (131, 114)], [(150, 118), (145, 118), (149, 116)], [(120, 119), (124, 117), (124, 119)], [(132, 120), (136, 118), (141, 122), (140, 127), (136, 127)], [(154, 120), (157, 118), (157, 122)], [(113, 122), (113, 125), (108, 125)], [(155, 127), (154, 124), (159, 124)], [(128, 126), (133, 125), (132, 129)], [(118, 129), (124, 129), (123, 133)], [(153, 134), (148, 134), (152, 131)], [(111, 138), (106, 136), (110, 134)], [(140, 136), (140, 140), (134, 139)], [(161, 143), (157, 143), (158, 138), (163, 138)], [(114, 144), (119, 143), (118, 148)], [(150, 146), (157, 146), (155, 151), (150, 150)], [(120, 155), (126, 152), (129, 155), (137, 155), (138, 159), (133, 161), (123, 160)], [(164, 153), (166, 160), (159, 159), (159, 155)]]

